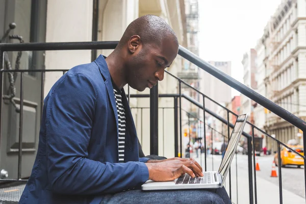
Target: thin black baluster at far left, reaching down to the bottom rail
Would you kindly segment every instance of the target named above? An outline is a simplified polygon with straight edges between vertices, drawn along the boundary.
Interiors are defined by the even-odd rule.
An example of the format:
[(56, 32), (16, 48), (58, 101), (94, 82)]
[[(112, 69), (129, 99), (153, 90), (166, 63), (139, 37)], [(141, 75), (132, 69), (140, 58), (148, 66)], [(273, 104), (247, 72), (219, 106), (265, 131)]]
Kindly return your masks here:
[(22, 158), (22, 120), (23, 120), (23, 75), (20, 73), (20, 112), (19, 112), (19, 145), (18, 145), (18, 180), (21, 179), (21, 158)]

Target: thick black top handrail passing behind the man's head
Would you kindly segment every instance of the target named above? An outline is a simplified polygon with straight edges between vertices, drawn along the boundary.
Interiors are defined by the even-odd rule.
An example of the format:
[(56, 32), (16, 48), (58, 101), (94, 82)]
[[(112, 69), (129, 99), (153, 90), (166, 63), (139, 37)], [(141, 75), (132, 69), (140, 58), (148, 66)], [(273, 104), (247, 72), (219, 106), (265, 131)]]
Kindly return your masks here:
[[(26, 50), (77, 50), (77, 49), (114, 49), (118, 44), (118, 41), (94, 41), (94, 42), (33, 42), (33, 43), (1, 43), (0, 50), (2, 51), (26, 51)], [(267, 108), (271, 112), (275, 113), (279, 117), (287, 120), (291, 124), (295, 125), (303, 132), (306, 132), (306, 123), (293, 115), (289, 111), (283, 109), (282, 107), (276, 105), (268, 98), (262, 96), (256, 91), (248, 88), (244, 84), (238, 82), (230, 75), (227, 75), (217, 67), (211, 65), (210, 63), (202, 60), (197, 55), (190, 52), (185, 47), (179, 47), (179, 55), (193, 64), (197, 65), (199, 68), (212, 74), (214, 77), (218, 78), (225, 84), (233, 87), (237, 91), (241, 92), (250, 99), (256, 101), (258, 104)], [(305, 138), (306, 139), (306, 138)]]

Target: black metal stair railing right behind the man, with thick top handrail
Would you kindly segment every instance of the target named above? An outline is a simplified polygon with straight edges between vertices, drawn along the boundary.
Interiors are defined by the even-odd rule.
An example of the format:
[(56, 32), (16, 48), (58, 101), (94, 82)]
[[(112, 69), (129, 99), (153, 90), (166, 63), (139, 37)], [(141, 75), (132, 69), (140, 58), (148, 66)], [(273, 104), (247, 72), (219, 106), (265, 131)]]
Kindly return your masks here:
[[(22, 44), (12, 44), (12, 43), (3, 43), (0, 44), (0, 139), (2, 138), (2, 122), (3, 122), (3, 88), (4, 88), (4, 73), (5, 72), (20, 72), (20, 114), (19, 114), (19, 146), (18, 146), (18, 177), (17, 179), (11, 179), (11, 180), (0, 180), (0, 181), (22, 181), (21, 180), (21, 159), (22, 159), (22, 118), (23, 118), (23, 74), (25, 72), (41, 72), (42, 74), (42, 97), (43, 97), (43, 81), (44, 81), (44, 73), (47, 71), (67, 71), (67, 70), (44, 70), (44, 69), (37, 69), (37, 70), (6, 70), (4, 69), (4, 52), (10, 52), (10, 51), (38, 51), (38, 50), (81, 50), (81, 49), (114, 49), (117, 45), (117, 41), (109, 41), (109, 42), (59, 42), (59, 43), (22, 43)], [(208, 73), (214, 75), (214, 77), (218, 78), (222, 82), (226, 83), (227, 85), (235, 88), (236, 90), (240, 91), (245, 96), (249, 97), (250, 99), (257, 102), (259, 105), (262, 105), (263, 107), (267, 108), (274, 114), (278, 115), (279, 117), (287, 120), (292, 125), (298, 127), (301, 131), (303, 131), (303, 146), (305, 147), (306, 144), (306, 123), (301, 120), (300, 118), (296, 117), (295, 115), (291, 114), (287, 110), (283, 109), (282, 107), (276, 105), (271, 100), (265, 98), (264, 96), (260, 95), (259, 93), (251, 90), (250, 88), (246, 87), (245, 85), (241, 84), (237, 80), (233, 79), (229, 75), (225, 74), (224, 72), (220, 71), (213, 65), (203, 61), (198, 56), (191, 53), (186, 48), (180, 46), (179, 47), (179, 55), (181, 55), (183, 58), (189, 60), (193, 64), (197, 65), (201, 69), (207, 71)], [(170, 73), (169, 73), (170, 74)], [(172, 74), (171, 74), (172, 75)], [(172, 77), (176, 78), (172, 75)], [(233, 114), (237, 116), (232, 111), (226, 109), (223, 107), (227, 112), (227, 120), (219, 117), (218, 115), (212, 113), (210, 110), (208, 110), (205, 107), (205, 99), (209, 99), (213, 101), (218, 106), (222, 107), (220, 104), (218, 104), (216, 101), (212, 100), (205, 94), (201, 93), (200, 91), (194, 89), (187, 83), (183, 82), (181, 79), (176, 78), (179, 81), (179, 94), (168, 94), (165, 97), (176, 97), (177, 100), (174, 100), (174, 107), (180, 107), (178, 110), (180, 118), (180, 125), (182, 125), (182, 97), (186, 98), (187, 100), (191, 101), (193, 104), (195, 104), (197, 107), (201, 108), (203, 110), (203, 115), (205, 116), (206, 113), (215, 116), (218, 120), (223, 122), (227, 125), (228, 129), (228, 137), (230, 135), (230, 127), (233, 127), (234, 125), (229, 122), (229, 114)], [(200, 104), (198, 101), (194, 100), (193, 98), (187, 97), (184, 94), (182, 94), (182, 83), (184, 83), (186, 86), (188, 86), (191, 89), (194, 89), (196, 92), (198, 92), (200, 95), (202, 95), (203, 98), (203, 104)], [(130, 92), (128, 92), (128, 96), (130, 98)], [(150, 153), (151, 154), (158, 154), (158, 97), (163, 97), (162, 94), (158, 94), (158, 86), (152, 88), (150, 90), (150, 95), (142, 95), (143, 97), (150, 97)], [(133, 95), (131, 95), (133, 97)], [(141, 97), (141, 95), (138, 95), (137, 97)], [(176, 106), (175, 106), (176, 101)], [(41, 99), (41, 105), (43, 104), (43, 98)], [(177, 106), (179, 104), (179, 106)], [(203, 120), (204, 126), (205, 119)], [(258, 130), (262, 132), (263, 134), (267, 135), (269, 138), (274, 140), (277, 143), (277, 154), (278, 154), (278, 161), (281, 160), (280, 156), (280, 146), (285, 146), (286, 148), (290, 149), (292, 152), (295, 152), (295, 154), (299, 155), (301, 158), (303, 158), (304, 162), (306, 161), (305, 157), (300, 155), (297, 151), (293, 150), (292, 148), (288, 147), (286, 144), (276, 140), (275, 138), (271, 137), (269, 134), (265, 133), (264, 131), (260, 130), (257, 126), (251, 124), (248, 122), (249, 125), (251, 125), (252, 135), (248, 135), (246, 133), (243, 133), (244, 136), (246, 136), (247, 139), (247, 145), (250, 147), (252, 145), (252, 149), (248, 148), (248, 174), (249, 174), (249, 202), (250, 203), (257, 203), (257, 181), (256, 181), (256, 161), (255, 161), (255, 150), (254, 150), (254, 143), (252, 141), (254, 140), (254, 130)], [(182, 136), (182, 129), (180, 129), (180, 134), (176, 134)], [(204, 129), (204, 135), (206, 135), (205, 129)], [(177, 137), (175, 137), (177, 138)], [(203, 137), (204, 139), (206, 137)], [(179, 139), (179, 138), (177, 138)], [(206, 141), (205, 141), (206, 143)], [(175, 145), (177, 147), (177, 141), (175, 142)], [(182, 137), (180, 137), (180, 150), (182, 152)], [(253, 152), (251, 152), (253, 150)], [(177, 155), (177, 151), (175, 152), (175, 155)], [(182, 155), (182, 154), (181, 154)], [(253, 164), (251, 155), (253, 155)], [(205, 165), (206, 166), (206, 165)], [(253, 191), (253, 185), (252, 185), (252, 168), (254, 170), (254, 191)], [(280, 203), (283, 203), (283, 194), (282, 194), (282, 169), (281, 165), (278, 165), (278, 180), (279, 180), (279, 201)], [(231, 174), (231, 173), (230, 173)], [(304, 175), (306, 175), (306, 169), (304, 169)], [(306, 176), (305, 176), (305, 186), (306, 186)], [(305, 188), (306, 189), (306, 188)], [(254, 196), (253, 196), (254, 192)], [(231, 189), (230, 189), (230, 195), (231, 195)]]

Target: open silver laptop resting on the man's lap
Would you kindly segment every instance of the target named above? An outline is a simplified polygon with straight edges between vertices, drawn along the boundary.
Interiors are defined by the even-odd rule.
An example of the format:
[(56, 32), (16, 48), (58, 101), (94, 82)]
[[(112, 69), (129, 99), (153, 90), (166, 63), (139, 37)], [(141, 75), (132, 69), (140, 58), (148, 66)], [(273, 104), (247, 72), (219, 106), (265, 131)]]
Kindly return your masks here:
[(148, 180), (141, 186), (144, 191), (151, 190), (174, 190), (174, 189), (217, 189), (224, 185), (226, 175), (230, 170), (240, 136), (243, 132), (247, 114), (239, 115), (235, 122), (233, 132), (228, 141), (224, 157), (218, 171), (203, 172), (202, 177), (192, 178), (185, 173), (178, 179), (169, 182), (155, 182)]

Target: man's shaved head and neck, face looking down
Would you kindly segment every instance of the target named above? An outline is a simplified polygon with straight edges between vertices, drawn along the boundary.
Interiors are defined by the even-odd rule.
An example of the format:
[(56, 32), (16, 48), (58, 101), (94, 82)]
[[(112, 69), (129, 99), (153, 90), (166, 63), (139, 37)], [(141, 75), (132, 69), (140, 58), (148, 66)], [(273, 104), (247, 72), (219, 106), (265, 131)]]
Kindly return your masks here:
[(158, 16), (145, 15), (130, 23), (106, 61), (118, 88), (129, 84), (143, 91), (164, 79), (165, 69), (178, 50), (179, 42), (170, 26)]

